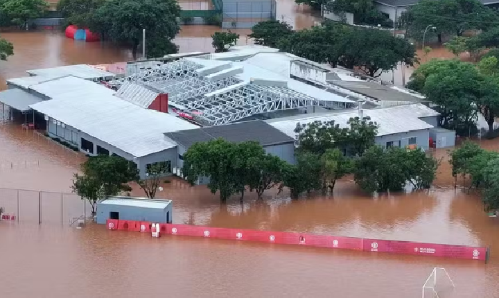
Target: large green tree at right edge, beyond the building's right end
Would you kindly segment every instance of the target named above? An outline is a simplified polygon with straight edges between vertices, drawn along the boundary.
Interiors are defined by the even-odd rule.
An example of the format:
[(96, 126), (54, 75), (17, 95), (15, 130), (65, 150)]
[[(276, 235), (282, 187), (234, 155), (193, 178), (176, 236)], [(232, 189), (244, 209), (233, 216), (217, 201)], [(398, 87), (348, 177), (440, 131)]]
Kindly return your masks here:
[(432, 60), (412, 73), (408, 87), (439, 105), (442, 127), (460, 135), (475, 134), (480, 112), (493, 130), (499, 114), (499, 79), (484, 73), (498, 68), (494, 59), (487, 58), (479, 67), (459, 60)]

